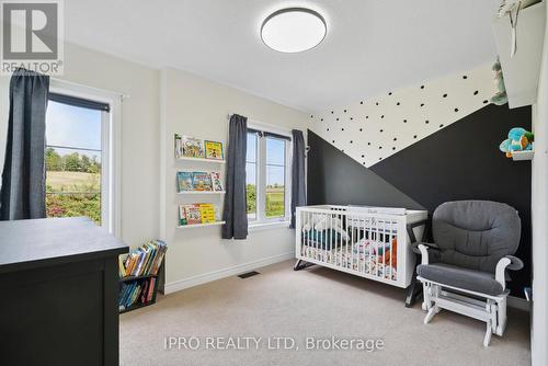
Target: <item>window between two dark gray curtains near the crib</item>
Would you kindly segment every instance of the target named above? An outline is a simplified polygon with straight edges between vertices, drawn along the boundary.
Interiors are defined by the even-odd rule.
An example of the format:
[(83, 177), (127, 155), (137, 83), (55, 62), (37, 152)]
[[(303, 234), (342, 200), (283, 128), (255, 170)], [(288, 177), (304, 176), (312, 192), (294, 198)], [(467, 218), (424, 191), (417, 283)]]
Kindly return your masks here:
[(248, 218), (251, 225), (289, 219), (290, 138), (249, 129), (246, 157)]

